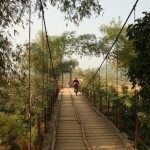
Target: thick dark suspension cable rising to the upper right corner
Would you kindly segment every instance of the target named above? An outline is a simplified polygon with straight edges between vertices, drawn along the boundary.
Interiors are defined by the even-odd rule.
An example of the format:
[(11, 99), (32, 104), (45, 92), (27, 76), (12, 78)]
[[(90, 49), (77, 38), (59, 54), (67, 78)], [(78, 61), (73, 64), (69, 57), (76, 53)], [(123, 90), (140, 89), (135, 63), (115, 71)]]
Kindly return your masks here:
[(114, 42), (112, 43), (112, 46), (110, 47), (109, 51), (107, 52), (106, 56), (104, 57), (104, 59), (103, 59), (103, 61), (102, 61), (101, 65), (100, 65), (100, 66), (99, 66), (99, 68), (96, 70), (95, 74), (93, 75), (93, 77), (91, 78), (91, 80), (88, 82), (88, 84), (87, 84), (85, 87), (87, 87), (87, 86), (91, 83), (91, 81), (92, 81), (92, 80), (93, 80), (93, 78), (96, 76), (97, 72), (98, 72), (98, 71), (99, 71), (99, 69), (102, 67), (102, 65), (103, 65), (103, 63), (105, 62), (105, 60), (107, 59), (107, 57), (109, 56), (109, 54), (110, 54), (110, 52), (112, 51), (112, 49), (113, 49), (114, 45), (115, 45), (115, 44), (116, 44), (116, 42), (118, 41), (118, 38), (119, 38), (119, 36), (121, 35), (121, 33), (122, 33), (122, 31), (123, 31), (123, 29), (124, 29), (124, 27), (125, 27), (125, 25), (126, 25), (127, 21), (129, 20), (129, 18), (130, 18), (130, 16), (131, 16), (131, 14), (133, 13), (133, 11), (134, 11), (134, 9), (135, 9), (135, 7), (136, 7), (136, 5), (137, 5), (138, 1), (139, 1), (139, 0), (137, 0), (137, 1), (135, 2), (135, 4), (133, 5), (132, 10), (130, 11), (130, 13), (129, 13), (129, 15), (128, 15), (127, 19), (125, 20), (125, 22), (124, 22), (124, 24), (123, 24), (123, 26), (122, 26), (121, 30), (120, 30), (120, 31), (119, 31), (119, 33), (117, 34), (116, 39), (115, 39), (115, 40), (114, 40)]

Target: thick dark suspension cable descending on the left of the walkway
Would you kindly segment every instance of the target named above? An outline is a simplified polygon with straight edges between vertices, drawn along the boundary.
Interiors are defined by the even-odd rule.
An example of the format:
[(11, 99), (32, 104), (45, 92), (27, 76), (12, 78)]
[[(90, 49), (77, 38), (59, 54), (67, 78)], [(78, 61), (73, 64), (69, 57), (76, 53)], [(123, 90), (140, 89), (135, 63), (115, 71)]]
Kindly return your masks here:
[(47, 41), (47, 46), (48, 46), (48, 51), (49, 51), (49, 57), (50, 57), (51, 65), (52, 65), (53, 76), (54, 76), (54, 79), (55, 79), (55, 83), (57, 85), (57, 79), (56, 79), (56, 74), (55, 74), (55, 71), (54, 71), (52, 54), (51, 54), (51, 49), (50, 49), (50, 44), (49, 44), (49, 38), (48, 38), (48, 34), (47, 34), (47, 28), (46, 28), (46, 22), (45, 22), (45, 16), (44, 16), (44, 9), (43, 9), (43, 5), (42, 5), (41, 0), (40, 0), (40, 3), (41, 3), (42, 18), (43, 18), (43, 22), (44, 22), (44, 28), (45, 28), (46, 41)]

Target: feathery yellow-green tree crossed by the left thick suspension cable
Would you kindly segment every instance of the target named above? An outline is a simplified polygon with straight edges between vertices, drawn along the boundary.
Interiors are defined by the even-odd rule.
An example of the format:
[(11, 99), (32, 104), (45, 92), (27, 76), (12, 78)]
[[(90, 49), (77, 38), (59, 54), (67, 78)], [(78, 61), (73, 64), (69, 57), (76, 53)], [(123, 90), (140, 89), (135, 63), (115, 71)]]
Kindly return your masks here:
[[(43, 33), (43, 35), (45, 35)], [(65, 60), (64, 57), (67, 55), (66, 49), (70, 46), (71, 38), (73, 38), (74, 32), (65, 32), (60, 36), (50, 36), (50, 51), (52, 55), (53, 67), (57, 77), (62, 72), (68, 72), (70, 67), (75, 68), (78, 65), (76, 60)], [(38, 37), (31, 46), (31, 68), (36, 74), (44, 74), (47, 70), (52, 71), (50, 65), (50, 54), (47, 50), (47, 45), (42, 33), (39, 32)], [(26, 54), (28, 58), (28, 53)]]

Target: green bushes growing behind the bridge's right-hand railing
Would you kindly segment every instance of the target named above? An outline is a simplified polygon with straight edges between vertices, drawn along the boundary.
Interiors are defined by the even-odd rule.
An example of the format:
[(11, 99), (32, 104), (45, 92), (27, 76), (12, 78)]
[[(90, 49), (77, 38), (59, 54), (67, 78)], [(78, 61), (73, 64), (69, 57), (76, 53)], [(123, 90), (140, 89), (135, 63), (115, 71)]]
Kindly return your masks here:
[[(87, 85), (87, 82), (91, 79), (90, 76), (93, 76), (93, 73), (93, 70), (84, 71), (84, 73), (79, 70), (79, 74), (82, 75), (85, 85)], [(109, 75), (110, 74), (108, 74), (108, 76)], [(98, 110), (101, 110), (101, 112), (107, 117), (109, 101), (109, 119), (117, 126), (119, 112), (120, 130), (121, 132), (127, 133), (130, 140), (134, 140), (134, 120), (135, 113), (137, 112), (139, 119), (139, 149), (146, 150), (144, 144), (147, 146), (150, 145), (150, 126), (149, 115), (139, 107), (141, 106), (142, 99), (139, 99), (139, 95), (136, 91), (135, 94), (128, 91), (128, 87), (125, 84), (122, 85), (122, 92), (118, 92), (110, 81), (108, 81), (107, 85), (106, 88), (105, 79), (101, 77), (101, 80), (99, 80), (98, 76), (95, 77), (94, 81), (91, 81), (89, 86), (86, 87), (90, 90), (90, 96), (88, 97), (89, 101), (94, 103), (94, 106), (97, 107)], [(95, 102), (93, 102), (94, 97)]]

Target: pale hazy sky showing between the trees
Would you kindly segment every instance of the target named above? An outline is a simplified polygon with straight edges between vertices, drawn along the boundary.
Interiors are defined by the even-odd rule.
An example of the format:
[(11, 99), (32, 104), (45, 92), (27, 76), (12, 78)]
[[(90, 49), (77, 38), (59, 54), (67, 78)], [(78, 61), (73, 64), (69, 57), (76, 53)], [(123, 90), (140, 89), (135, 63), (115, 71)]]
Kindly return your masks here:
[[(48, 9), (45, 10), (45, 21), (47, 26), (47, 31), (49, 35), (60, 35), (65, 31), (76, 31), (77, 34), (95, 34), (100, 36), (99, 27), (102, 24), (109, 24), (109, 22), (114, 18), (120, 16), (122, 22), (124, 23), (128, 17), (133, 5), (136, 0), (99, 0), (102, 5), (103, 12), (97, 18), (93, 15), (90, 19), (83, 19), (79, 26), (75, 26), (73, 23), (69, 23), (66, 26), (66, 21), (64, 20), (64, 14), (60, 13), (54, 7), (48, 6)], [(50, 5), (50, 4), (49, 4)], [(142, 17), (142, 12), (150, 12), (150, 0), (139, 0), (136, 11), (135, 18)], [(42, 30), (42, 21), (35, 16), (32, 16), (31, 25), (31, 38), (35, 39), (38, 31)], [(127, 24), (134, 22), (134, 15), (132, 14)], [(28, 27), (24, 30), (18, 28), (20, 33), (16, 36), (16, 43), (23, 44), (25, 41), (28, 41)], [(79, 61), (79, 68), (97, 68), (100, 66), (102, 59), (101, 58), (89, 58), (83, 57), (82, 59), (79, 56), (74, 56), (74, 59)]]

